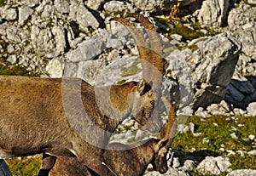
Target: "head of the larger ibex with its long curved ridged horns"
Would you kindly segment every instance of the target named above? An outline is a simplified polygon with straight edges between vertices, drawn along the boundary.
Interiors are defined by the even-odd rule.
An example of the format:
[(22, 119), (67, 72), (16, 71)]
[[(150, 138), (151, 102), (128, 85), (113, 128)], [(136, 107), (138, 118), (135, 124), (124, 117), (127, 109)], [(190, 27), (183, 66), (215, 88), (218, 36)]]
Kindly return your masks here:
[[(133, 17), (141, 22), (148, 34), (147, 42), (143, 32), (139, 31), (129, 20), (116, 17), (112, 19), (119, 21), (131, 32), (137, 44), (140, 59), (142, 60), (143, 80), (150, 82), (149, 84), (139, 82), (138, 88), (143, 90), (141, 91), (143, 95), (143, 108), (135, 116), (135, 119), (139, 122), (140, 126), (147, 128), (150, 132), (159, 132), (162, 127), (159, 110), (161, 97), (160, 86), (163, 82), (166, 65), (166, 60), (163, 59), (160, 37), (156, 32), (157, 28), (142, 14), (127, 14), (126, 17)], [(150, 100), (148, 101), (148, 99)]]

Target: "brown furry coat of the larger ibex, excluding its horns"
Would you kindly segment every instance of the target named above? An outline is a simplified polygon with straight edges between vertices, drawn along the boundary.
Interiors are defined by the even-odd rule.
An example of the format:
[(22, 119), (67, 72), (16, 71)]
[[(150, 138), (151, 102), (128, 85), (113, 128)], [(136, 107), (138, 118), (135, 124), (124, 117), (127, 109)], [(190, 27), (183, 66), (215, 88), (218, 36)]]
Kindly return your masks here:
[[(141, 94), (142, 90), (137, 92), (137, 88), (137, 82), (96, 89), (78, 78), (0, 76), (0, 156), (29, 156), (42, 152), (52, 156), (76, 156), (79, 162), (102, 175), (106, 173), (106, 167), (100, 165), (102, 149), (89, 144), (83, 137), (90, 133), (90, 139), (103, 147), (110, 137), (104, 130), (113, 132), (119, 122), (134, 112), (138, 121), (148, 119), (154, 109), (150, 103), (154, 101), (154, 94), (151, 89)], [(110, 97), (119, 100), (109, 102), (102, 95), (106, 89), (110, 89)], [(96, 95), (103, 97), (97, 101)], [(84, 120), (77, 97), (82, 99), (89, 120)], [(105, 98), (108, 102), (104, 104)], [(68, 111), (72, 111), (69, 115), (63, 102), (67, 103)], [(128, 106), (119, 109), (122, 106), (118, 102)], [(148, 118), (145, 118), (145, 111), (149, 112)], [(72, 127), (70, 118), (74, 122), (84, 122), (77, 122), (75, 124), (79, 125)], [(87, 125), (88, 121), (96, 123), (103, 132), (94, 131), (94, 127)], [(75, 128), (81, 128), (83, 133), (77, 133)]]

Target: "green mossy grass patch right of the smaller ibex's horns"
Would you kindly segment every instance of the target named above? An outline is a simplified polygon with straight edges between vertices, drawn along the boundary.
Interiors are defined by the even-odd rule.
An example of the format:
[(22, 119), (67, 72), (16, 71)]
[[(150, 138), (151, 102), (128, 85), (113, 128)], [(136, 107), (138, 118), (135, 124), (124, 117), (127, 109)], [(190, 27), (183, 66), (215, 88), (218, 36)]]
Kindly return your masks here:
[[(248, 139), (250, 134), (256, 131), (256, 117), (247, 116), (211, 116), (206, 121), (201, 121), (198, 116), (191, 116), (188, 119), (196, 126), (195, 133), (201, 133), (195, 137), (190, 131), (177, 134), (172, 144), (173, 149), (190, 152), (192, 150), (212, 150), (230, 158), (232, 169), (252, 168), (256, 169), (254, 164), (255, 156), (240, 156), (236, 153), (234, 156), (228, 155), (227, 150), (254, 150), (253, 141)], [(236, 128), (236, 130), (233, 130)], [(230, 134), (236, 133), (237, 139), (233, 139)], [(208, 142), (203, 142), (206, 140)], [(224, 151), (219, 150), (224, 146)]]

